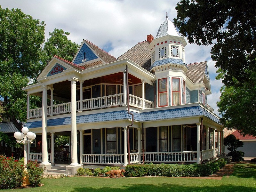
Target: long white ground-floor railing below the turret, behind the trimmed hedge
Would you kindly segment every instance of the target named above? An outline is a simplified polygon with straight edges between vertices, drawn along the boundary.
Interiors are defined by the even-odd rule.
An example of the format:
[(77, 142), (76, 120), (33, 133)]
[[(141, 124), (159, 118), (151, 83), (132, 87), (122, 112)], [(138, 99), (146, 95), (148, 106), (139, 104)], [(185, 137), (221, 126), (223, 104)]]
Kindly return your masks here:
[(196, 162), (196, 151), (145, 152), (145, 162)]

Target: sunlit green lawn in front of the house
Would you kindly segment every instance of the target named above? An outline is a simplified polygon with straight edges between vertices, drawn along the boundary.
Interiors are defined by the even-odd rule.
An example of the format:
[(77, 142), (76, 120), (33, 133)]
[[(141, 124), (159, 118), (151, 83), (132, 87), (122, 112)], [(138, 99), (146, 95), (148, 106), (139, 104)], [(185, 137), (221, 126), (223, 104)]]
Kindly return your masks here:
[[(14, 189), (14, 192), (256, 192), (256, 164), (238, 163), (229, 177), (221, 180), (171, 177), (99, 178), (68, 177), (44, 179), (44, 186)], [(11, 191), (1, 190), (0, 192)]]

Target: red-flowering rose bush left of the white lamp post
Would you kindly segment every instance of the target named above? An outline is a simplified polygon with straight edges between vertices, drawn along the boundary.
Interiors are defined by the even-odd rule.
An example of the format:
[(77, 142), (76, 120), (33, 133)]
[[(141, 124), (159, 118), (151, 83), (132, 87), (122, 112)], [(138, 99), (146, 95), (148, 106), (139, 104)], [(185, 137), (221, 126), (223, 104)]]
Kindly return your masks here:
[(24, 161), (0, 155), (0, 189), (20, 188), (24, 177)]

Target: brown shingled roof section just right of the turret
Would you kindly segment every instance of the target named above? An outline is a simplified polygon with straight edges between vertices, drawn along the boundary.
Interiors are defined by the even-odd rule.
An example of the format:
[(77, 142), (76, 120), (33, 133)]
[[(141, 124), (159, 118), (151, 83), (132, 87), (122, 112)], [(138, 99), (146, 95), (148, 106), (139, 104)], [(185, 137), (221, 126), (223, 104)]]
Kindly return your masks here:
[(202, 83), (204, 81), (206, 64), (207, 61), (187, 64), (188, 71), (186, 75), (193, 83)]

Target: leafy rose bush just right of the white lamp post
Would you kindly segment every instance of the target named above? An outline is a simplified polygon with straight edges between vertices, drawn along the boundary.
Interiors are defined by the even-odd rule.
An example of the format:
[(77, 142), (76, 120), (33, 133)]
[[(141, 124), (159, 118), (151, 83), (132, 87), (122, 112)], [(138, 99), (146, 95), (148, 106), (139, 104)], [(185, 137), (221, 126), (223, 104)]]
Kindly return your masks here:
[(44, 168), (39, 167), (37, 161), (28, 161), (27, 163), (28, 170), (28, 181), (30, 186), (38, 187), (41, 183), (41, 179), (43, 179)]

